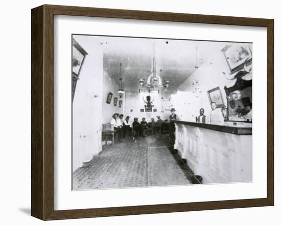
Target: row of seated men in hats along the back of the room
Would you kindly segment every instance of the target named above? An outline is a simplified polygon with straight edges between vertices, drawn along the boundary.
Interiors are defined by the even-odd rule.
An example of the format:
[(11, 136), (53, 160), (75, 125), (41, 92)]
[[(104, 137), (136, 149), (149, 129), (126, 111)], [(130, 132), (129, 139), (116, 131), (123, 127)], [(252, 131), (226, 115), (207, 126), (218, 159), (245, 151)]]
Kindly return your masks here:
[[(154, 120), (154, 118), (151, 118), (151, 122), (147, 123), (146, 118), (143, 118), (142, 121), (139, 123), (138, 118), (134, 118), (134, 121), (132, 123), (132, 127), (130, 126), (130, 117), (127, 116), (125, 120), (123, 120), (124, 115), (115, 113), (112, 115), (112, 119), (110, 121), (110, 124), (114, 127), (114, 130), (117, 131), (119, 135), (119, 139), (123, 141), (126, 138), (127, 133), (133, 135), (133, 138), (135, 135), (142, 135), (147, 136), (147, 131), (151, 130), (153, 134), (158, 134), (161, 132), (162, 128), (162, 120), (160, 119), (160, 116), (157, 116), (157, 121)], [(134, 131), (134, 132), (132, 132)]]

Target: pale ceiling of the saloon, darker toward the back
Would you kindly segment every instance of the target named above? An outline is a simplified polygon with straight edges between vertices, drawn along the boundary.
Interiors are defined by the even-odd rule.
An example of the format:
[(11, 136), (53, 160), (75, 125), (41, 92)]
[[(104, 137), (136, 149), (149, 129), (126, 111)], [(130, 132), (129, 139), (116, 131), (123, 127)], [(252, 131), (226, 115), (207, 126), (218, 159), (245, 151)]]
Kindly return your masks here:
[[(122, 63), (123, 90), (138, 92), (138, 79), (147, 81), (152, 71), (153, 44), (156, 52), (156, 71), (163, 80), (170, 80), (168, 92), (172, 93), (195, 70), (227, 43), (191, 40), (124, 38), (88, 36), (99, 43), (104, 52), (104, 70), (120, 83)], [(83, 47), (83, 43), (79, 43)], [(85, 49), (87, 51), (87, 49)]]

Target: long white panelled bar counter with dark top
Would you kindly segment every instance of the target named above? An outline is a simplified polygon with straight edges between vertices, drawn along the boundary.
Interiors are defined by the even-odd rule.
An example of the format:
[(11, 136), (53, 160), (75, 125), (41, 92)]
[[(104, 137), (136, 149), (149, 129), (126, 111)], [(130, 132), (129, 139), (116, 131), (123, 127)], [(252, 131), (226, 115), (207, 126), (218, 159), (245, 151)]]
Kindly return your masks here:
[(252, 124), (175, 121), (174, 149), (202, 183), (252, 181)]

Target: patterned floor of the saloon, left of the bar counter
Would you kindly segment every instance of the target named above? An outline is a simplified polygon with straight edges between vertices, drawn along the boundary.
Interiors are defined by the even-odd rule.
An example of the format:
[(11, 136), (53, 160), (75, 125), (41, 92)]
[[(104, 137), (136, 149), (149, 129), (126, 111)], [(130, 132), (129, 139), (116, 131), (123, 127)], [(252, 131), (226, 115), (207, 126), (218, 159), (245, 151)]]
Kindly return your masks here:
[(190, 184), (167, 146), (167, 135), (103, 146), (73, 173), (73, 190)]

